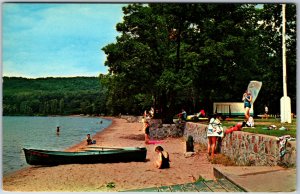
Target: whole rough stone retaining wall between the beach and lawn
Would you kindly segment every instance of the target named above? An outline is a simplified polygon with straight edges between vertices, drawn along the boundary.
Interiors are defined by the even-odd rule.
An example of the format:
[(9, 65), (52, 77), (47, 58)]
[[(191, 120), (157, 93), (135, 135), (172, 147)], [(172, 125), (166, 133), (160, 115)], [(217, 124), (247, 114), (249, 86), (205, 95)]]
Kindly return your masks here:
[[(141, 116), (121, 116), (128, 122), (142, 122)], [(207, 124), (187, 122), (186, 124), (162, 124), (160, 119), (151, 119), (150, 138), (164, 139), (167, 137), (193, 137), (197, 144), (207, 146)], [(280, 157), (280, 145), (276, 137), (234, 131), (227, 134), (218, 143), (218, 151), (236, 162), (247, 166), (296, 166), (296, 141), (286, 143), (286, 154)]]

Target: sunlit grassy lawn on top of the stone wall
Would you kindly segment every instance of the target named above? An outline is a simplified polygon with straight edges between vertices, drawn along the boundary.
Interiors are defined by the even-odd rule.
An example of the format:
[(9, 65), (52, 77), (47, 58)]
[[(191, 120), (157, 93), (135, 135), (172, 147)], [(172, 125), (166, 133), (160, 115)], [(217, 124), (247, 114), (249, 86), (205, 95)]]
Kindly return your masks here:
[[(223, 126), (231, 127), (235, 125), (238, 122), (243, 122), (243, 118), (232, 118), (230, 120), (224, 120), (222, 121)], [(268, 130), (267, 127), (270, 125), (275, 125), (277, 129)], [(291, 137), (296, 138), (296, 119), (292, 120), (292, 123), (281, 123), (280, 118), (269, 118), (269, 119), (261, 119), (256, 118), (254, 119), (254, 128), (243, 128), (243, 131), (249, 132), (249, 133), (259, 133), (259, 134), (266, 134), (266, 135), (272, 135), (276, 137), (280, 137), (283, 135), (291, 135)], [(287, 130), (282, 131), (279, 130), (280, 127), (285, 127)]]

